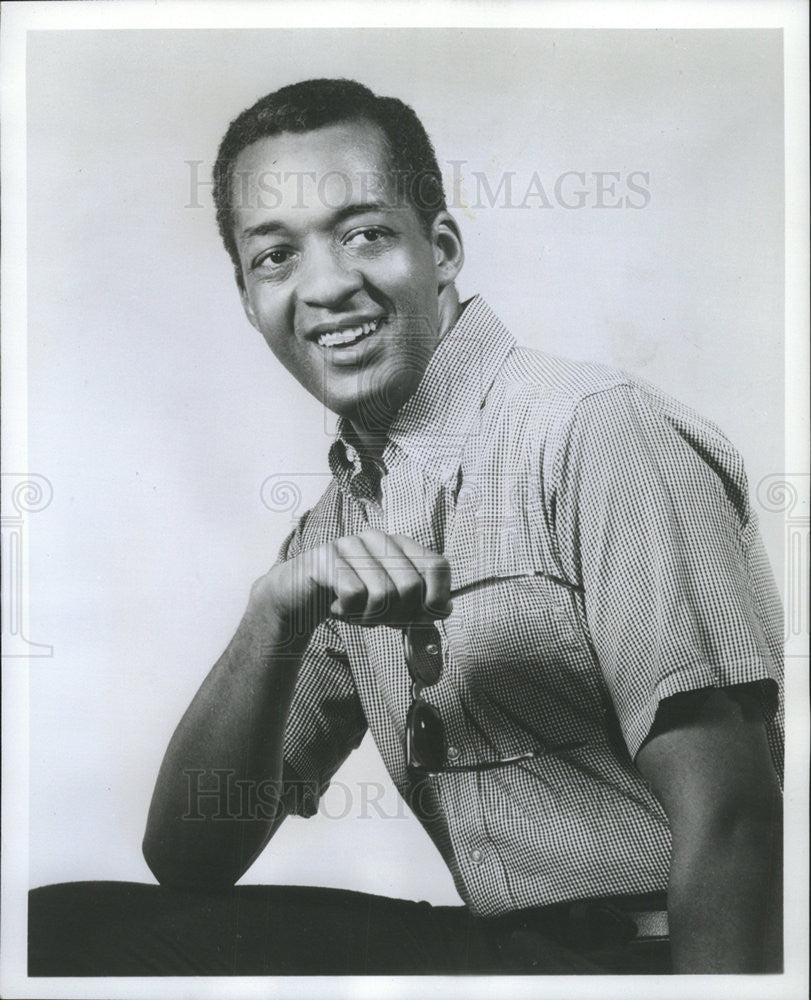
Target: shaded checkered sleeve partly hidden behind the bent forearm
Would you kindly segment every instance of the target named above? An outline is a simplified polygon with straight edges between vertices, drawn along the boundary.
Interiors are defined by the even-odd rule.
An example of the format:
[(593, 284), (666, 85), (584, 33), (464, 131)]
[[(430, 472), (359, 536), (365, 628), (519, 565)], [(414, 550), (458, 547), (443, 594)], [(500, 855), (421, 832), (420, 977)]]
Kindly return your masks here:
[[(297, 529), (285, 539), (279, 561), (298, 553), (299, 537)], [(287, 813), (315, 814), (320, 797), (360, 745), (366, 727), (338, 625), (323, 622), (302, 658), (284, 734), (282, 800)]]

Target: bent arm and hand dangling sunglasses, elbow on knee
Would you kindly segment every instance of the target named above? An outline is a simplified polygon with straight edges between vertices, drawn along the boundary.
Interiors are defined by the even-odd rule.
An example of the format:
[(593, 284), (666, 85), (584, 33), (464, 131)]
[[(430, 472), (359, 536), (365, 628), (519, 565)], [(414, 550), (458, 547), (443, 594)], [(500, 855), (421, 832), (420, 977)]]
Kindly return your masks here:
[[(234, 638), (183, 716), (158, 774), (143, 850), (159, 882), (233, 885), (281, 822), (284, 731), (318, 625), (330, 615), (362, 626), (405, 625), (425, 618), (426, 609), (434, 618), (450, 613), (447, 562), (412, 539), (378, 531), (310, 549), (254, 584)], [(228, 783), (227, 810), (217, 796), (198, 793), (190, 802), (197, 776), (202, 789), (218, 777)]]

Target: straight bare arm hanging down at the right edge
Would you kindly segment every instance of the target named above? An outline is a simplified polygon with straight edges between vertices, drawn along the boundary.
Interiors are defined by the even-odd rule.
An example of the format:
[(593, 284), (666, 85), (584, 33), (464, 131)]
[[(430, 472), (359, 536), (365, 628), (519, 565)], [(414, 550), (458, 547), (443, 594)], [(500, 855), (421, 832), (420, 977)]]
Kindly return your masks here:
[(670, 821), (674, 971), (782, 967), (782, 796), (745, 687), (662, 703), (636, 757)]

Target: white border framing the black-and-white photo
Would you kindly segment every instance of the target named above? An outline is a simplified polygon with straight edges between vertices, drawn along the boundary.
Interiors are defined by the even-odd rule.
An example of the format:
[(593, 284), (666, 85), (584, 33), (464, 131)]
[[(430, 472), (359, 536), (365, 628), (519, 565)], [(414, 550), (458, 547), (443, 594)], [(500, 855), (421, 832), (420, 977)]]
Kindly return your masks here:
[[(303, 27), (536, 28), (781, 28), (784, 31), (786, 107), (786, 469), (808, 476), (808, 57), (807, 6), (800, 2), (65, 2), (6, 4), (2, 11), (2, 147), (4, 253), (2, 275), (4, 371), (3, 458), (6, 469), (27, 469), (26, 448), (26, 201), (25, 51), (32, 30), (249, 29)], [(802, 498), (808, 515), (808, 494)], [(3, 835), (0, 993), (5, 997), (451, 997), (470, 1000), (503, 992), (556, 998), (644, 996), (689, 1000), (720, 996), (794, 998), (808, 985), (808, 681), (807, 646), (789, 650), (787, 676), (786, 972), (772, 977), (537, 978), (455, 977), (261, 979), (182, 977), (29, 979), (26, 974), (28, 890), (27, 678), (14, 661), (3, 675)], [(803, 658), (806, 658), (803, 660)], [(272, 984), (272, 985), (271, 985)]]

